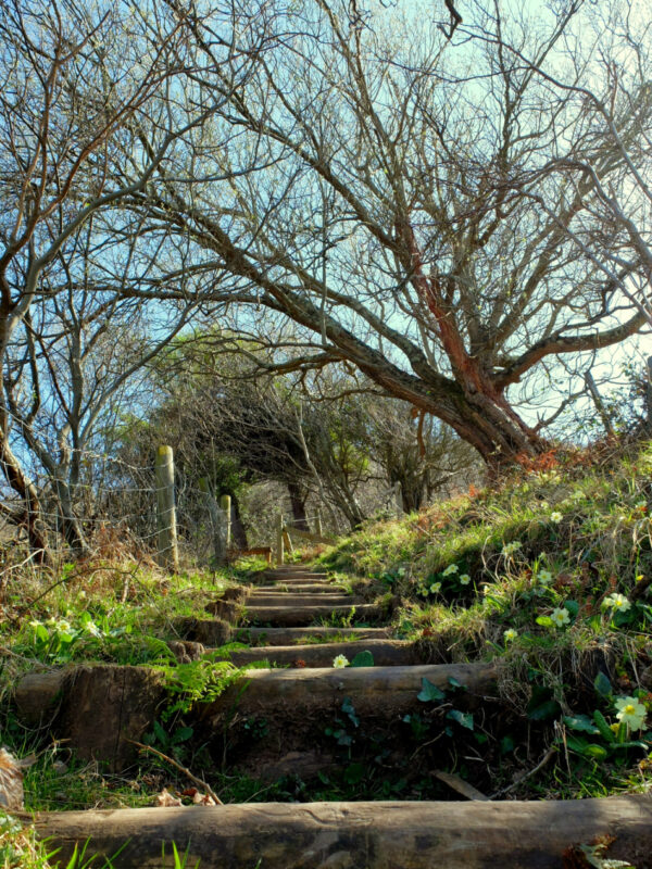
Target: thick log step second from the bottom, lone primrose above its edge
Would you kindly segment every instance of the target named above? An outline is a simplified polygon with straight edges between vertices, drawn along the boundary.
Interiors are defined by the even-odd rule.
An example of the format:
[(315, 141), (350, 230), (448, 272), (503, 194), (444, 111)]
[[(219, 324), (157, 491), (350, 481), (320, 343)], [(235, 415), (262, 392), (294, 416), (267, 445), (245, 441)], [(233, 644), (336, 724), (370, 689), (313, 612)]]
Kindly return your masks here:
[(271, 715), (288, 709), (303, 715), (314, 709), (339, 708), (344, 697), (350, 697), (356, 714), (391, 719), (423, 705), (417, 700), (423, 679), (440, 689), (450, 688), (450, 679), (455, 679), (466, 688), (460, 703), (473, 705), (474, 697), (494, 691), (497, 673), (493, 663), (248, 670), (243, 677), (247, 689), (242, 691), (242, 684), (236, 682), (205, 704), (201, 717), (205, 720), (230, 715), (236, 701), (241, 715)]

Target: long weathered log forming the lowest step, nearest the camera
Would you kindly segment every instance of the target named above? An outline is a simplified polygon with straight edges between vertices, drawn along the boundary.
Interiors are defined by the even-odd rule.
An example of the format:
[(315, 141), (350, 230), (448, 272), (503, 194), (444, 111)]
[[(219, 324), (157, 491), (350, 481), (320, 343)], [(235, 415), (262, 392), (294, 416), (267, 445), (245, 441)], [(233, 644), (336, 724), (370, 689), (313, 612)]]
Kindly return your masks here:
[[(29, 821), (29, 816), (25, 816)], [(38, 835), (65, 866), (75, 844), (99, 865), (172, 866), (172, 843), (201, 869), (561, 869), (573, 846), (613, 837), (607, 856), (652, 869), (647, 795), (536, 803), (259, 803), (40, 813)], [(126, 846), (125, 846), (125, 843)], [(52, 864), (54, 865), (54, 862)], [(95, 862), (93, 862), (95, 865)], [(588, 864), (586, 864), (588, 866)]]

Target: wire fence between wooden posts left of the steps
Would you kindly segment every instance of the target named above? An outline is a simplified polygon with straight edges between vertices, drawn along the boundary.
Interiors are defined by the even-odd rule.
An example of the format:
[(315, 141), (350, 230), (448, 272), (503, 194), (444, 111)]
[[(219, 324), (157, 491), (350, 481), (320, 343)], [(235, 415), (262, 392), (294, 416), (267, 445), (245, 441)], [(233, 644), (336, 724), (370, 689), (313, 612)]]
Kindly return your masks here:
[[(60, 474), (33, 473), (30, 494), (0, 483), (0, 577), (17, 564), (47, 558), (128, 555), (161, 558), (161, 541), (173, 531), (184, 564), (209, 564), (214, 556), (215, 516), (201, 490), (181, 474), (174, 476), (174, 512), (162, 511), (155, 462), (137, 466), (114, 456), (72, 453)], [(8, 470), (7, 467), (2, 470)], [(30, 528), (42, 546), (35, 546)]]

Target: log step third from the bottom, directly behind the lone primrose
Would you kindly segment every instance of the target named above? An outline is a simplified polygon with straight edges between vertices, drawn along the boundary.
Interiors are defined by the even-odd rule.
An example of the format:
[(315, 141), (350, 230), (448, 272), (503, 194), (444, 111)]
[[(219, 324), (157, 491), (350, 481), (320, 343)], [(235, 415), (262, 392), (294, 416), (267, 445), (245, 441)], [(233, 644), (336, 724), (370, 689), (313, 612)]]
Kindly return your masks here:
[(236, 667), (247, 667), (256, 660), (291, 667), (330, 667), (337, 655), (353, 660), (359, 652), (368, 651), (377, 667), (397, 667), (421, 664), (422, 653), (408, 640), (353, 640), (338, 643), (311, 643), (310, 645), (272, 645), (240, 648), (229, 653), (228, 660)]

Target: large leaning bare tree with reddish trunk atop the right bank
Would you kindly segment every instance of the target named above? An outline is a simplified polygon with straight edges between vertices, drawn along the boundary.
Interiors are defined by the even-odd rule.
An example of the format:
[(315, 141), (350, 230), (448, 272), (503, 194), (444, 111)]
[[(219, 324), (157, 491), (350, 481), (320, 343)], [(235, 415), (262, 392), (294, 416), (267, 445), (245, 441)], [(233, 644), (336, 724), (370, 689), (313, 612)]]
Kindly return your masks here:
[(527, 390), (555, 360), (589, 358), (645, 320), (597, 250), (569, 236), (594, 219), (595, 179), (619, 177), (622, 161), (598, 150), (575, 187), (540, 172), (562, 140), (595, 146), (574, 101), (504, 50), (538, 66), (559, 59), (581, 7), (569, 0), (531, 28), (488, 3), (474, 12), (481, 39), (457, 46), (463, 25), (449, 41), (403, 3), (358, 5), (354, 20), (340, 0), (273, 3), (273, 48), (235, 90), (214, 61), (210, 16), (190, 7), (185, 26), (211, 71), (202, 87), (230, 93), (203, 133), (229, 127), (233, 141), (203, 151), (192, 197), (158, 174), (148, 205), (206, 272), (233, 276), (228, 290), (205, 290), (215, 316), (251, 329), (266, 311), (260, 333), (281, 368), (292, 320), (305, 367), (353, 363), (490, 465), (546, 449), (534, 407), (528, 421), (514, 403), (521, 381)]

